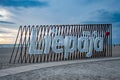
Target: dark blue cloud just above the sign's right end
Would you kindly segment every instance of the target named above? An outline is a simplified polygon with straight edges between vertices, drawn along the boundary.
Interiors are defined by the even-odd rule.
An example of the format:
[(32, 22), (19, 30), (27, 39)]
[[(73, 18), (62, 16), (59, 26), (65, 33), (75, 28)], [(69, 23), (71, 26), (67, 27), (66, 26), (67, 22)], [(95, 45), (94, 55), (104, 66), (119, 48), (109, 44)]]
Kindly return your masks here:
[(92, 16), (83, 23), (120, 23), (120, 11), (100, 9), (92, 12)]

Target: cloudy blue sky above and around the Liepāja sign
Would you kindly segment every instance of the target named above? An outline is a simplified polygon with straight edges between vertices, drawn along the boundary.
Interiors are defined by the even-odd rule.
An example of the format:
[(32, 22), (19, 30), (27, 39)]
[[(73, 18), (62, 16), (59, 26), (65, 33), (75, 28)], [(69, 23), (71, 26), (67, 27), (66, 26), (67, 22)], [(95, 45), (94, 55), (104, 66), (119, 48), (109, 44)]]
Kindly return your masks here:
[(0, 0), (0, 44), (13, 44), (20, 25), (100, 23), (120, 44), (120, 0)]

